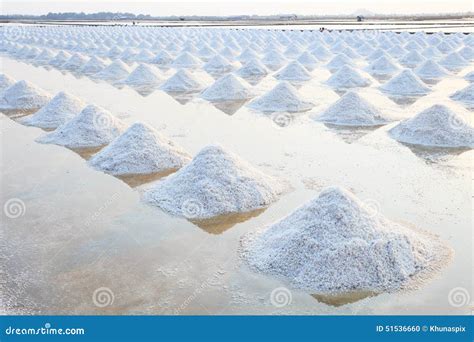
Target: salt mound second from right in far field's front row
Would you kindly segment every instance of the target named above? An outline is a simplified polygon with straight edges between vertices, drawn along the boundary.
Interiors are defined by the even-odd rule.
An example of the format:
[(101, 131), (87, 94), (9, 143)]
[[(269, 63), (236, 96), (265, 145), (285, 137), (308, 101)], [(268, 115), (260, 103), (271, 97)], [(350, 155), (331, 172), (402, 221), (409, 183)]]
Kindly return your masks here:
[(392, 121), (352, 91), (344, 94), (315, 119), (342, 126), (378, 126)]

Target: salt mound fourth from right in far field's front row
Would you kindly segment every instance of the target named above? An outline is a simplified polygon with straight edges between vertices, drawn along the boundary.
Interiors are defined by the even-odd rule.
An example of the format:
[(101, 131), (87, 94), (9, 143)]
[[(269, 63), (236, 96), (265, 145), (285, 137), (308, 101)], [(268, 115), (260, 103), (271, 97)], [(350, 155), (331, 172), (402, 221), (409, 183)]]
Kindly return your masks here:
[(250, 86), (243, 79), (233, 74), (219, 78), (213, 85), (201, 93), (201, 97), (208, 101), (245, 100), (253, 96)]

